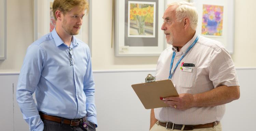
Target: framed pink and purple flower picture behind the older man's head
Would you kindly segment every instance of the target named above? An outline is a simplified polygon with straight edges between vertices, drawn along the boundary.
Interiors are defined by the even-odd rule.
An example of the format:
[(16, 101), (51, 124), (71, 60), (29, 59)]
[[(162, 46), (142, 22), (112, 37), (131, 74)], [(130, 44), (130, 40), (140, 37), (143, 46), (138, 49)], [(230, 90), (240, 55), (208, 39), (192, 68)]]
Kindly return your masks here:
[(233, 53), (234, 0), (190, 0), (198, 11), (197, 33), (223, 43)]

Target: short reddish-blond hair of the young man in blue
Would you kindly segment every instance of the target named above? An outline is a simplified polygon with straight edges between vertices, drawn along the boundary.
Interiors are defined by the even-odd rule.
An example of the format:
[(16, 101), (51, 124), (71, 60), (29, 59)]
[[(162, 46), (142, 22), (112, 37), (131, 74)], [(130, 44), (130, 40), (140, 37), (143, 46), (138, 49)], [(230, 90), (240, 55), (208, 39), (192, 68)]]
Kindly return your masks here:
[(72, 10), (74, 6), (79, 6), (81, 10), (87, 10), (89, 9), (89, 4), (86, 0), (54, 0), (53, 2), (53, 14), (55, 20), (57, 20), (57, 17), (55, 15), (55, 12), (59, 10), (64, 15)]

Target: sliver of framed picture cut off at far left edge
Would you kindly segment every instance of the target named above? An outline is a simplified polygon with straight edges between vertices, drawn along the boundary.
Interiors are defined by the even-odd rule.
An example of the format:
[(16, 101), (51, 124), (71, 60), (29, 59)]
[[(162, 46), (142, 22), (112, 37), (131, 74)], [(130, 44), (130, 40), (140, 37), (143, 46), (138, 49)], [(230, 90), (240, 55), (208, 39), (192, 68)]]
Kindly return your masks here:
[(6, 0), (0, 0), (0, 60), (6, 59)]

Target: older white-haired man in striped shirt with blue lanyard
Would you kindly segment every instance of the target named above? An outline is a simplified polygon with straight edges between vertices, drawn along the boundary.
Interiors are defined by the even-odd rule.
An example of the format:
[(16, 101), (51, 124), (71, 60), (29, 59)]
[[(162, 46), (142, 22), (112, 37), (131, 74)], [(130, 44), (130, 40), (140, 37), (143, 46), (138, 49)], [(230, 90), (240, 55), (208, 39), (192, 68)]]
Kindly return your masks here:
[(160, 98), (169, 107), (151, 110), (151, 131), (221, 131), (225, 104), (240, 97), (233, 61), (218, 41), (196, 32), (191, 3), (168, 6), (161, 29), (172, 47), (159, 56), (156, 79), (171, 79), (179, 96)]

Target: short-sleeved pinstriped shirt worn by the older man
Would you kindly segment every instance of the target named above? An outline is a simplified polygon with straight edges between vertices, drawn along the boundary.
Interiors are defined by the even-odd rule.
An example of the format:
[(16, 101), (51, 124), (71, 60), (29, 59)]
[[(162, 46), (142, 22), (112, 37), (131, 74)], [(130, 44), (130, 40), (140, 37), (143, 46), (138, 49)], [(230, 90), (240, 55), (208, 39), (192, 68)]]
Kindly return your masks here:
[[(176, 55), (172, 71), (196, 37), (197, 33), (182, 47), (180, 52), (177, 52), (176, 47), (170, 47), (161, 53), (156, 67), (156, 80), (168, 79), (173, 51)], [(182, 71), (180, 69), (182, 62), (193, 63), (195, 67), (192, 67), (191, 72)], [(198, 94), (221, 85), (239, 86), (236, 70), (228, 51), (220, 42), (203, 36), (199, 36), (197, 43), (181, 60), (171, 80), (179, 94)], [(162, 122), (198, 125), (220, 121), (225, 113), (225, 105), (192, 107), (187, 110), (164, 107), (156, 108), (154, 111), (156, 119)]]

